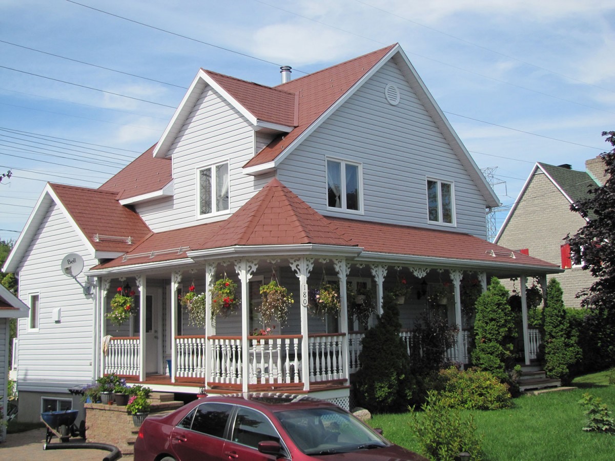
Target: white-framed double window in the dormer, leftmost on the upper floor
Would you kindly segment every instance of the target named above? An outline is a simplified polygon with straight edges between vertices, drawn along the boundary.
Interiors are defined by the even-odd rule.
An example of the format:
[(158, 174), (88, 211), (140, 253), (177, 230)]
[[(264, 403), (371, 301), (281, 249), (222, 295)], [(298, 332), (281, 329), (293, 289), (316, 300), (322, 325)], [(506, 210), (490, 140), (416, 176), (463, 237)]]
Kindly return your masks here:
[(199, 216), (229, 210), (229, 164), (223, 163), (197, 171)]

